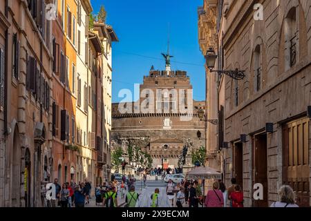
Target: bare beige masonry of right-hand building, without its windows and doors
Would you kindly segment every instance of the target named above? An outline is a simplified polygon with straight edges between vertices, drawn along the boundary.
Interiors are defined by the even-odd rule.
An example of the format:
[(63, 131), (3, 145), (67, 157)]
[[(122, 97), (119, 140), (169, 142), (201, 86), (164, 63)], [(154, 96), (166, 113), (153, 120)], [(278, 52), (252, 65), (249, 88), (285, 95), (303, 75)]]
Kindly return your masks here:
[[(274, 132), (267, 134), (267, 178), (269, 204), (277, 200), (282, 180), (282, 125), (298, 119), (310, 105), (310, 2), (261, 1), (263, 21), (254, 21), (248, 13), (252, 1), (232, 5), (227, 12), (228, 26), (223, 37), (225, 68), (245, 70), (245, 79), (238, 81), (238, 106), (235, 103), (235, 82), (225, 77), (225, 141), (235, 142), (247, 134), (243, 144), (243, 189), (246, 205), (252, 205), (252, 138), (265, 131), (265, 123), (274, 123)], [(296, 8), (297, 60), (289, 67), (285, 17)], [(240, 11), (237, 14), (237, 11)], [(252, 10), (251, 10), (252, 11)], [(309, 30), (309, 31), (308, 31)], [(254, 50), (261, 47), (262, 86), (256, 90)], [(232, 177), (232, 148), (225, 150), (226, 181)]]

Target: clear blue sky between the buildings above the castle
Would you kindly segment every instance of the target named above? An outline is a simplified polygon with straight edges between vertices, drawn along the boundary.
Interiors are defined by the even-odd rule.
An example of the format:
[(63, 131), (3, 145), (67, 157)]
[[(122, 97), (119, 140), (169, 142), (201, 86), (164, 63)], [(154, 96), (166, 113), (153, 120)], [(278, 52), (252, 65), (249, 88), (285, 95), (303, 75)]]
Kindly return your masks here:
[(120, 40), (113, 44), (113, 102), (122, 100), (118, 97), (122, 88), (133, 91), (134, 84), (141, 84), (151, 65), (165, 69), (161, 52), (167, 51), (168, 29), (174, 56), (171, 68), (186, 70), (194, 87), (194, 99), (205, 99), (205, 61), (198, 45), (197, 15), (202, 0), (91, 0), (91, 3), (95, 14), (104, 5), (106, 23), (113, 26)]

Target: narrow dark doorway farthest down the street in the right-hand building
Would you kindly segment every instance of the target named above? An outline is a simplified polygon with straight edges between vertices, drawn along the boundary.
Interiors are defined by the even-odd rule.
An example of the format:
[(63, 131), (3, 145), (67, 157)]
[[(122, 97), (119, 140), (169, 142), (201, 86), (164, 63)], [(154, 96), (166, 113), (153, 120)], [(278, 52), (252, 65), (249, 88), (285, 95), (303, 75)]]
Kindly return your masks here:
[(234, 177), (236, 184), (243, 189), (243, 143), (234, 144)]

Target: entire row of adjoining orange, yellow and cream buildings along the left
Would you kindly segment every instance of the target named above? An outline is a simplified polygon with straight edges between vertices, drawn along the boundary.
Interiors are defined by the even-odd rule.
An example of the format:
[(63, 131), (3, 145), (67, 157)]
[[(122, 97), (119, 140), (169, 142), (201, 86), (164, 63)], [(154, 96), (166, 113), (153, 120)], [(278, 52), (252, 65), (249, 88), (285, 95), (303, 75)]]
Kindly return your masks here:
[(104, 34), (92, 30), (88, 38), (92, 10), (89, 0), (0, 1), (0, 207), (44, 206), (41, 191), (55, 178), (97, 182), (109, 130), (103, 106), (111, 100), (104, 100), (104, 55), (89, 55), (113, 38), (111, 51), (116, 36), (103, 24)]

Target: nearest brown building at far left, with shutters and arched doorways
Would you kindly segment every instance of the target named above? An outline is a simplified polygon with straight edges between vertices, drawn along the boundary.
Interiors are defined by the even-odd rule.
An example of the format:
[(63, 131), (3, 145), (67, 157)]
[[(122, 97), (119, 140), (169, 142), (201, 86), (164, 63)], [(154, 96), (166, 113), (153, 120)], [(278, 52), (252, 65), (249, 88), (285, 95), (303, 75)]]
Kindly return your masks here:
[(1, 1), (0, 206), (41, 206), (51, 136), (51, 31), (45, 1)]

